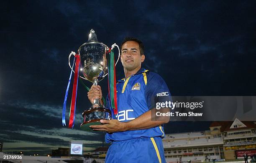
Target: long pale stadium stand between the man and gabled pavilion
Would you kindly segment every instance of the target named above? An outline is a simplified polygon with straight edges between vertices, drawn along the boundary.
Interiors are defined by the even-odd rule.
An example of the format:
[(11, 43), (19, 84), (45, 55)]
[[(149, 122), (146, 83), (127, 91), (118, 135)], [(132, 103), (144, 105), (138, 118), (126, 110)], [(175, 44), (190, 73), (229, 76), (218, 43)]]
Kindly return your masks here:
[(213, 136), (210, 131), (166, 134), (163, 144), (167, 162), (201, 162), (224, 157), (222, 137)]

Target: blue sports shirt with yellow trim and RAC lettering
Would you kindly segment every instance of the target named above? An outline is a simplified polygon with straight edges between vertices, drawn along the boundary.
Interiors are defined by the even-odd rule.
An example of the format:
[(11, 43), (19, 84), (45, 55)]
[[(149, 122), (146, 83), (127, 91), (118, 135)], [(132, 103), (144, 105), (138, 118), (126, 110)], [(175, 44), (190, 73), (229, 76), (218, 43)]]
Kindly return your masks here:
[[(110, 107), (107, 96), (106, 107), (111, 110), (112, 118), (121, 122), (136, 119), (141, 114), (150, 109), (156, 108), (156, 102), (171, 100), (170, 91), (159, 74), (149, 72), (141, 68), (136, 74), (127, 79), (121, 79), (116, 84), (118, 114), (115, 116)], [(161, 98), (164, 96), (164, 98)], [(161, 137), (164, 138), (163, 125), (143, 130), (123, 131), (116, 133), (106, 133), (105, 141), (125, 141), (140, 137)]]

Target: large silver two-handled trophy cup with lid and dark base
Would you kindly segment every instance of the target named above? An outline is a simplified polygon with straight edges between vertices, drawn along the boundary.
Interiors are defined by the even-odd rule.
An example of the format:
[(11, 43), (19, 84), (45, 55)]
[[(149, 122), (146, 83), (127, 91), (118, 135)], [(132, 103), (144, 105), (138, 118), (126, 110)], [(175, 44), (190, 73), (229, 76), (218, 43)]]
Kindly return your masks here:
[[(117, 46), (112, 45), (112, 48)], [(118, 47), (118, 46), (117, 46)], [(119, 49), (119, 47), (118, 47)], [(97, 40), (95, 31), (90, 30), (88, 41), (82, 44), (78, 49), (80, 55), (81, 67), (80, 71), (86, 79), (91, 81), (93, 85), (97, 86), (98, 82), (101, 81), (107, 75), (107, 56), (110, 49), (107, 45)], [(69, 60), (72, 54), (69, 55)], [(74, 54), (73, 54), (74, 55)], [(70, 61), (69, 61), (69, 67)], [(90, 125), (99, 125), (100, 119), (112, 119), (111, 111), (104, 107), (99, 99), (94, 99), (92, 106), (82, 113), (84, 123), (81, 124), (80, 128), (84, 131), (92, 131), (89, 128)]]

